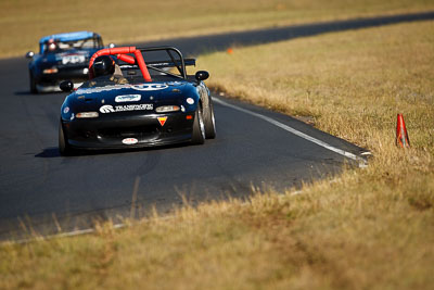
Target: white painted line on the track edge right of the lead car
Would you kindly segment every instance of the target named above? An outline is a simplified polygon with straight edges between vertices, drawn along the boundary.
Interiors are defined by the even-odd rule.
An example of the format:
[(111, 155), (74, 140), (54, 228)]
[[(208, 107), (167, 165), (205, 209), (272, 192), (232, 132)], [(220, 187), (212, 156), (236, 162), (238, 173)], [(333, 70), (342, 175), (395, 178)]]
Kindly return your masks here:
[(233, 109), (233, 110), (243, 112), (243, 113), (245, 113), (245, 114), (248, 114), (248, 115), (252, 115), (252, 116), (261, 118), (261, 119), (264, 119), (264, 121), (266, 121), (266, 122), (268, 122), (268, 123), (270, 123), (270, 124), (272, 124), (272, 125), (279, 127), (279, 128), (282, 128), (282, 129), (284, 129), (284, 130), (286, 130), (286, 131), (289, 131), (289, 133), (292, 133), (292, 134), (294, 134), (294, 135), (296, 135), (296, 136), (298, 136), (298, 137), (305, 139), (305, 140), (308, 140), (308, 141), (310, 141), (310, 142), (312, 142), (312, 143), (316, 143), (316, 144), (318, 144), (318, 146), (320, 146), (320, 147), (322, 147), (322, 148), (326, 148), (326, 149), (328, 149), (328, 150), (330, 150), (330, 151), (333, 151), (333, 152), (335, 152), (335, 153), (337, 153), (337, 154), (340, 154), (340, 155), (343, 155), (343, 156), (345, 156), (345, 157), (347, 157), (347, 159), (350, 159), (350, 160), (354, 160), (354, 161), (358, 161), (358, 162), (361, 163), (361, 164), (359, 163), (359, 166), (360, 166), (360, 167), (365, 167), (365, 166), (367, 165), (366, 160), (363, 160), (362, 157), (357, 156), (357, 155), (355, 155), (355, 154), (353, 154), (353, 153), (350, 153), (350, 152), (346, 152), (346, 151), (344, 151), (344, 150), (342, 150), (342, 149), (332, 147), (331, 144), (328, 144), (328, 143), (326, 143), (326, 142), (323, 142), (323, 141), (321, 141), (321, 140), (318, 140), (317, 138), (314, 138), (314, 137), (311, 137), (311, 136), (309, 136), (309, 135), (306, 135), (306, 134), (304, 134), (304, 133), (302, 133), (302, 131), (298, 131), (298, 130), (296, 130), (296, 129), (294, 129), (294, 128), (292, 128), (292, 127), (290, 127), (290, 126), (288, 126), (288, 125), (285, 125), (285, 124), (283, 124), (283, 123), (280, 123), (280, 122), (276, 121), (276, 119), (273, 119), (273, 118), (270, 118), (270, 117), (267, 117), (267, 116), (265, 116), (265, 115), (261, 115), (261, 114), (258, 114), (258, 113), (248, 111), (248, 110), (246, 110), (246, 109), (243, 109), (243, 108), (240, 108), (240, 106), (237, 106), (237, 105), (227, 103), (227, 102), (225, 102), (225, 101), (222, 101), (222, 100), (220, 100), (220, 99), (218, 99), (218, 98), (216, 98), (216, 97), (213, 97), (213, 100), (214, 100), (216, 103), (219, 103), (219, 104), (221, 104), (221, 105), (225, 105), (225, 106), (231, 108), (231, 109)]

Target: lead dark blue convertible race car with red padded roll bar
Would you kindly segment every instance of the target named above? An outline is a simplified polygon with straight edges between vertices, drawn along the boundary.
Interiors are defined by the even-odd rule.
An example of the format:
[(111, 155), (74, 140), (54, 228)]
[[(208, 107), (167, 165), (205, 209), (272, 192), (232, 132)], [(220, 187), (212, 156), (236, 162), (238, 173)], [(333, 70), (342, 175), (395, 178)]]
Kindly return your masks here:
[[(118, 64), (115, 63), (115, 60)], [(102, 49), (89, 62), (89, 80), (61, 109), (59, 150), (125, 149), (174, 143), (202, 144), (216, 137), (213, 101), (195, 65), (174, 47)]]

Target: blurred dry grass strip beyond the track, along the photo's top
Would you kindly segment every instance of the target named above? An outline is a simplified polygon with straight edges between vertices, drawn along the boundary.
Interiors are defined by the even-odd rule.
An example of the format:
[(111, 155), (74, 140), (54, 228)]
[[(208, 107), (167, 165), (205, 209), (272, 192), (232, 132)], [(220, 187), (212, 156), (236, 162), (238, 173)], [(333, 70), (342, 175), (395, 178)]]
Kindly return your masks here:
[(94, 30), (136, 42), (258, 27), (434, 10), (426, 0), (0, 1), (0, 58), (37, 50), (40, 37)]

